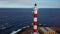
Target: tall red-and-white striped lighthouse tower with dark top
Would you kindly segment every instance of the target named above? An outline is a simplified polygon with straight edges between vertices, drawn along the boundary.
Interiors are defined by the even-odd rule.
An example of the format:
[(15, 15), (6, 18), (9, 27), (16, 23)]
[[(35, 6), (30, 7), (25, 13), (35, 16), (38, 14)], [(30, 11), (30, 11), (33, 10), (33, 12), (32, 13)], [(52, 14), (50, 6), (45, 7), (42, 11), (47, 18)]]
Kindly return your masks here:
[(35, 7), (34, 7), (34, 22), (33, 22), (33, 31), (34, 33), (33, 34), (37, 34), (37, 4), (35, 3)]

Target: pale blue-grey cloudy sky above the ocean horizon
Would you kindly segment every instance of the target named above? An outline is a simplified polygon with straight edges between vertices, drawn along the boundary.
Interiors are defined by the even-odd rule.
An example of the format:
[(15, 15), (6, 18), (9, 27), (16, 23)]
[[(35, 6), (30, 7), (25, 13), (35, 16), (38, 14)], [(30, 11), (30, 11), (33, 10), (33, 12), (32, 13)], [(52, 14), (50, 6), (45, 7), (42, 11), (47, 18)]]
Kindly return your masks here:
[(0, 8), (60, 8), (60, 0), (0, 0)]

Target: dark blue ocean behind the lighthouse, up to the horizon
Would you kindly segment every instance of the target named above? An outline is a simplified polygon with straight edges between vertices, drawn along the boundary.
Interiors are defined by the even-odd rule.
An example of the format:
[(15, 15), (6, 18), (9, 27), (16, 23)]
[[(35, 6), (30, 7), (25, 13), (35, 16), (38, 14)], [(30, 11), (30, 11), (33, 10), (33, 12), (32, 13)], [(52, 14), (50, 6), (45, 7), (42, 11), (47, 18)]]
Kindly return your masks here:
[[(0, 34), (10, 34), (33, 23), (33, 8), (0, 8)], [(39, 8), (38, 24), (60, 27), (60, 8)]]

